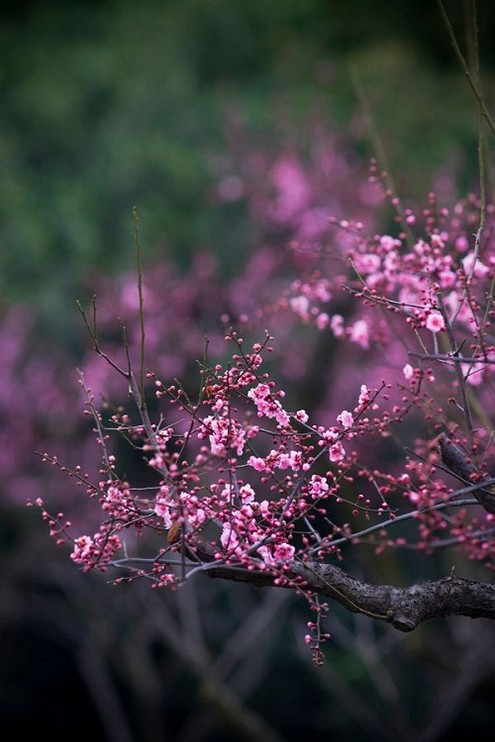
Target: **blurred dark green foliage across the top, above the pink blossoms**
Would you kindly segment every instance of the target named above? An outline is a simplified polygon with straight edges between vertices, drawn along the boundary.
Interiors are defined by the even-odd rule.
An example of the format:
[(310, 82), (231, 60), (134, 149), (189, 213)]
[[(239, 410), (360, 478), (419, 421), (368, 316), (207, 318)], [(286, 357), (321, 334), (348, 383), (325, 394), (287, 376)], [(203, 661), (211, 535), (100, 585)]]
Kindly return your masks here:
[[(474, 106), (435, 3), (72, 0), (1, 12), (0, 292), (35, 302), (60, 338), (91, 274), (131, 264), (134, 205), (150, 261), (185, 267), (207, 245), (237, 266), (253, 241), (246, 215), (208, 197), (227, 114), (272, 147), (310, 113), (345, 127), (359, 108), (349, 62), (404, 196), (422, 200), (446, 164), (461, 191), (474, 172)], [(373, 154), (366, 131), (356, 142)]]

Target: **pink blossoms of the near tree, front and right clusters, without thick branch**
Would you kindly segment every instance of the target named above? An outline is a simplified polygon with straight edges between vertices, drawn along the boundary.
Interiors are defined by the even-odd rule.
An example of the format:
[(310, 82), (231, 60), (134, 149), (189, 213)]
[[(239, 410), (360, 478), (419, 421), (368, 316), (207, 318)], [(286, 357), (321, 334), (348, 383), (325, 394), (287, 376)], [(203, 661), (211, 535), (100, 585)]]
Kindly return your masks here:
[[(231, 329), (225, 340), (236, 350), (224, 363), (203, 365), (195, 401), (181, 386), (150, 373), (156, 398), (169, 404), (160, 424), (142, 418), (131, 425), (122, 412), (112, 417), (107, 434), (125, 433), (160, 478), (149, 497), (116, 476), (91, 402), (107, 479), (88, 492), (98, 495), (105, 519), (96, 535), (74, 539), (72, 558), (85, 569), (113, 564), (132, 571), (132, 556), (116, 558), (122, 531), (166, 531), (169, 544), (150, 556), (147, 571), (156, 584), (173, 584), (211, 564), (268, 570), (277, 581), (290, 581), (294, 560), (342, 558), (350, 543), (363, 541), (378, 551), (411, 548), (402, 534), (388, 535), (400, 515), (417, 527), (415, 548), (431, 550), (450, 541), (490, 566), (493, 516), (470, 495), (471, 477), (453, 485), (438, 473), (437, 439), (445, 431), (463, 447), (466, 460), (479, 462), (479, 477), (488, 476), (492, 461), (491, 386), (479, 379), (491, 379), (495, 366), (495, 251), (488, 229), (473, 236), (475, 215), (473, 198), (452, 217), (436, 209), (432, 198), (419, 238), (407, 229), (398, 237), (368, 237), (362, 225), (339, 223), (352, 235), (345, 252), (330, 240), (319, 250), (320, 265), (313, 256), (308, 274), (292, 282), (289, 294), (281, 293), (281, 309), (362, 354), (344, 379), (346, 406), (341, 397), (340, 408), (318, 409), (317, 416), (326, 417), (321, 422), (314, 421), (315, 413), (291, 408), (265, 370), (275, 355), (272, 338), (266, 334), (246, 350)], [(330, 270), (335, 265), (340, 272)], [(287, 300), (290, 292), (297, 301)], [(332, 311), (334, 303), (349, 301), (351, 312)], [(322, 315), (328, 322), (321, 322)], [(379, 381), (372, 378), (377, 365), (384, 372)], [(478, 393), (477, 407), (469, 388), (471, 396)], [(411, 454), (398, 470), (382, 470), (379, 452), (398, 424), (413, 440)], [(463, 487), (467, 501), (457, 496)], [(447, 517), (447, 508), (454, 515)], [(60, 537), (66, 531), (57, 527), (62, 519), (52, 519), (59, 541), (69, 538)], [(185, 573), (184, 564), (180, 570), (174, 566), (178, 550), (190, 558)], [(146, 571), (142, 561), (139, 573)]]

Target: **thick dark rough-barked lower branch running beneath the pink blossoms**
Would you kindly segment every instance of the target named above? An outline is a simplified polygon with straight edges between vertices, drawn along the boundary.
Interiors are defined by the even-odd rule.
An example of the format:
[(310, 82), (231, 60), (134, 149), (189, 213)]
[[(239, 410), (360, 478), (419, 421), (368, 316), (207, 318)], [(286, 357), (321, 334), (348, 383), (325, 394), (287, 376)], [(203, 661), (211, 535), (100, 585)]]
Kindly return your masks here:
[[(213, 567), (208, 574), (257, 587), (274, 584), (274, 577), (264, 572)], [(353, 613), (391, 623), (400, 631), (412, 631), (429, 618), (495, 618), (495, 585), (488, 582), (452, 575), (411, 587), (375, 586), (360, 582), (339, 567), (318, 562), (296, 562), (287, 576), (303, 578), (306, 589), (337, 601)]]

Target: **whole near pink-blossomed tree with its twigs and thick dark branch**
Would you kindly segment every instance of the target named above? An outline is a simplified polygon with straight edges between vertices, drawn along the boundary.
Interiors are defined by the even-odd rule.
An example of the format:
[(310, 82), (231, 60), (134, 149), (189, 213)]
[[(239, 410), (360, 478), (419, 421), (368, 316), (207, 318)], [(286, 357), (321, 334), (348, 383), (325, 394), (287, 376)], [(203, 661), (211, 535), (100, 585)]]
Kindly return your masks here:
[[(493, 129), (479, 81), (469, 79)], [(206, 347), (195, 393), (166, 363), (162, 372), (147, 361), (153, 308), (135, 215), (136, 336), (122, 323), (121, 353), (110, 353), (96, 304), (92, 314), (81, 307), (97, 357), (130, 405), (102, 408), (82, 375), (99, 470), (43, 452), (86, 492), (96, 527), (73, 534), (63, 513), (36, 504), (75, 564), (111, 569), (117, 583), (177, 590), (204, 576), (295, 591), (314, 612), (305, 641), (316, 664), (329, 601), (404, 632), (433, 617), (493, 618), (488, 577), (451, 571), (397, 587), (352, 573), (356, 551), (371, 560), (386, 550), (457, 550), (487, 575), (494, 569), (495, 245), (484, 180), (480, 197), (448, 209), (430, 194), (415, 213), (373, 165), (370, 182), (385, 184), (398, 224), (375, 234), (341, 215), (325, 216), (323, 229), (321, 210), (305, 211), (310, 190), (294, 160), (272, 175), (277, 198), (264, 214), (297, 223), (289, 250), (298, 273), (262, 311), (248, 307), (236, 322), (224, 312), (229, 350)], [(242, 192), (242, 181), (229, 178), (219, 186), (224, 199)], [(297, 403), (283, 364), (277, 370), (277, 329), (287, 317), (335, 345), (312, 409)], [(307, 371), (297, 352), (294, 365)], [(145, 480), (126, 476), (115, 440), (140, 456)]]

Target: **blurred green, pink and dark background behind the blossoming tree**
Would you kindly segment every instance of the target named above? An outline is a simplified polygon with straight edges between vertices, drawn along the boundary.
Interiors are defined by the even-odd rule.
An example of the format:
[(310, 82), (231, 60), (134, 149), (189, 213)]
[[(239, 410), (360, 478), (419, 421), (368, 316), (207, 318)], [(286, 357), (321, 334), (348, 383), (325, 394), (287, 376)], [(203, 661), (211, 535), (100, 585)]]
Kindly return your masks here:
[[(480, 5), (490, 106), (495, 38)], [(466, 3), (446, 8), (464, 44)], [(134, 206), (150, 356), (187, 380), (206, 332), (216, 347), (222, 313), (239, 318), (276, 294), (288, 242), (323, 238), (331, 214), (390, 225), (367, 188), (377, 149), (410, 207), (432, 189), (447, 206), (476, 189), (476, 111), (436, 3), (2, 2), (0, 51), (2, 739), (492, 729), (489, 622), (402, 636), (332, 607), (327, 662), (314, 668), (302, 641), (311, 617), (294, 596), (200, 581), (179, 595), (117, 589), (81, 575), (25, 507), (42, 496), (84, 517), (83, 498), (35, 452), (94, 463), (77, 368), (125, 394), (92, 358), (75, 300), (97, 293), (110, 345), (127, 313), (132, 339)], [(313, 381), (332, 346), (310, 335), (311, 363), (298, 365), (300, 339), (285, 332), (284, 383), (318, 409)], [(367, 575), (407, 584), (453, 559), (391, 555)]]

